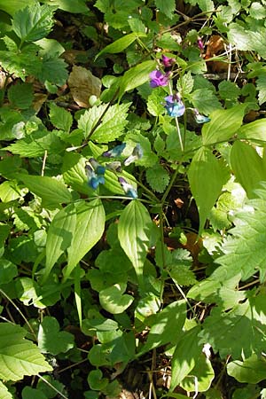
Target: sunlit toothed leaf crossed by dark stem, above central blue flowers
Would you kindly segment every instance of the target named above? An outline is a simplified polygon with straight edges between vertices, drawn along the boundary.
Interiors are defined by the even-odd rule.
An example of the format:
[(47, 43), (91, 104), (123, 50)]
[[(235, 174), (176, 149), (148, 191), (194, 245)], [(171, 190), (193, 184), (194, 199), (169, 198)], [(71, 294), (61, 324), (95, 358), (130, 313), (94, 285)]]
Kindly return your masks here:
[(98, 121), (101, 121), (91, 138), (98, 143), (109, 143), (122, 135), (123, 129), (128, 123), (129, 106), (130, 104), (115, 104), (109, 106), (107, 111), (107, 105), (93, 106), (82, 114), (78, 121), (78, 128), (82, 129), (85, 138), (87, 138)]

